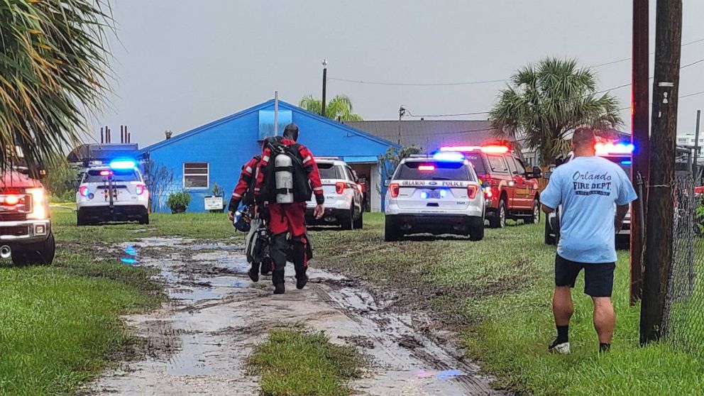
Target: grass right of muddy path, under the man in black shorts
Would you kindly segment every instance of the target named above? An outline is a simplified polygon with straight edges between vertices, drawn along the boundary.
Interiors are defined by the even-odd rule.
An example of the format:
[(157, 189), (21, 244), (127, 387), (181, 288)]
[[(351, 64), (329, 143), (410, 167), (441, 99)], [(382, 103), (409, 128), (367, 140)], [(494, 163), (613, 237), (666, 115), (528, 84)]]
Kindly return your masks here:
[(583, 283), (573, 292), (571, 356), (551, 356), (554, 247), (542, 227), (487, 230), (483, 241), (414, 238), (383, 242), (383, 216), (364, 231), (315, 233), (321, 265), (402, 290), (400, 301), (434, 310), (463, 334), (471, 358), (497, 385), (534, 395), (694, 395), (704, 363), (667, 343), (640, 348), (639, 307), (628, 304), (628, 256), (619, 253), (614, 290), (617, 328), (612, 352), (597, 353), (592, 303)]

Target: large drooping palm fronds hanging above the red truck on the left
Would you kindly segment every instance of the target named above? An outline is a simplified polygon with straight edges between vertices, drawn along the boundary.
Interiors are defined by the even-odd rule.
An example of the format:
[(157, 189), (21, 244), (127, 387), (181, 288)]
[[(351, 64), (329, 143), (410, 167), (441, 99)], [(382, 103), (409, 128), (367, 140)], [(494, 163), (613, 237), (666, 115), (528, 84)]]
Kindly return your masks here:
[(79, 141), (108, 89), (107, 0), (0, 1), (0, 163), (36, 171)]

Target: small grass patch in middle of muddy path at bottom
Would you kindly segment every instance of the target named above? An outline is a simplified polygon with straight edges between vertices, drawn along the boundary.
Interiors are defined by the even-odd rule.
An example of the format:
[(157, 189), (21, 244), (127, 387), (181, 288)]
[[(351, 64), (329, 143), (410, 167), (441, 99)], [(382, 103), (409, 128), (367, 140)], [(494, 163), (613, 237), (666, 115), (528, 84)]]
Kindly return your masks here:
[(348, 380), (360, 377), (362, 363), (353, 347), (300, 329), (272, 331), (249, 358), (253, 372), (261, 375), (265, 396), (351, 395)]

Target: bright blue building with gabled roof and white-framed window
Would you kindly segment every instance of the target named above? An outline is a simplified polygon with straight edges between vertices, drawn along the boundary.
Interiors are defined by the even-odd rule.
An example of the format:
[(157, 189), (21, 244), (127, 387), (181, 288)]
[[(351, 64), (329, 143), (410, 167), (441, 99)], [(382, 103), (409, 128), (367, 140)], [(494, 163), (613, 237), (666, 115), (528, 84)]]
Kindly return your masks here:
[[(274, 134), (274, 106), (270, 100), (143, 148), (141, 155), (151, 167), (165, 168), (173, 175), (163, 191), (150, 192), (153, 209), (169, 211), (168, 194), (186, 191), (192, 198), (187, 210), (205, 211), (205, 197), (212, 195), (216, 183), (227, 201), (241, 166), (261, 153), (263, 138)], [(279, 101), (277, 131), (282, 133), (290, 122), (300, 128), (299, 143), (314, 155), (339, 157), (365, 178), (371, 210), (381, 210), (384, 187), (379, 158), (395, 143)]]

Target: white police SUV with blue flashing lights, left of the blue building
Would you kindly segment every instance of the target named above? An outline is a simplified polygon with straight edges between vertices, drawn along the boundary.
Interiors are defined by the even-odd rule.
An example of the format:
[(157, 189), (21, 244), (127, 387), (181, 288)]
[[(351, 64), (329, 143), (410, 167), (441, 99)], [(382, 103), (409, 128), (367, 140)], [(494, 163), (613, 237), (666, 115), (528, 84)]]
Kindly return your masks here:
[(106, 221), (149, 224), (149, 192), (134, 160), (114, 160), (84, 171), (76, 193), (78, 225)]

